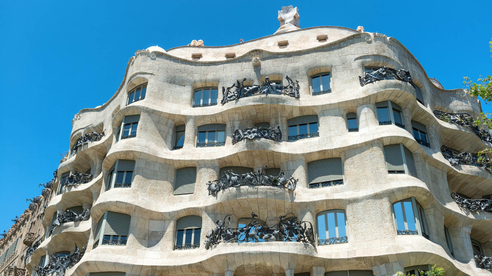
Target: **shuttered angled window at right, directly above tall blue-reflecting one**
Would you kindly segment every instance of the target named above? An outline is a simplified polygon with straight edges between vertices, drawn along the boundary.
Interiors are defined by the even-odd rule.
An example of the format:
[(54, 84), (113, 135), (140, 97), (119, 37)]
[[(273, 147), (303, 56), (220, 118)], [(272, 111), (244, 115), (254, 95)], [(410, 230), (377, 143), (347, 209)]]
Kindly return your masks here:
[(412, 153), (402, 144), (385, 145), (384, 159), (388, 173), (406, 173), (417, 177)]

